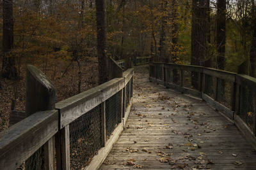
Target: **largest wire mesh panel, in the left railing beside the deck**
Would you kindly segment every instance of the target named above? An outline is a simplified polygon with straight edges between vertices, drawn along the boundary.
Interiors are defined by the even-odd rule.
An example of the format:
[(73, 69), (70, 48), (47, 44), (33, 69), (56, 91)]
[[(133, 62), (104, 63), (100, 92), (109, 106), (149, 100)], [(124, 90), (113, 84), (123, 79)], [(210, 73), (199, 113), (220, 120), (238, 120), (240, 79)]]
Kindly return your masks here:
[(102, 146), (100, 105), (69, 125), (70, 169), (87, 166)]

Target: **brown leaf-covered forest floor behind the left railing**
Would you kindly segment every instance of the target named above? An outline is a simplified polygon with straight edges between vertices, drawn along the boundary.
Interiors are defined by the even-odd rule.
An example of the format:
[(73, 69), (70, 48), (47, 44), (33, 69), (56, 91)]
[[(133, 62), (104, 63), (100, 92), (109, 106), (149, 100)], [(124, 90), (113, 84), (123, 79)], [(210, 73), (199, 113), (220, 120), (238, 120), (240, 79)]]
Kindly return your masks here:
[[(81, 92), (83, 92), (97, 86), (98, 62), (95, 57), (84, 57), (80, 62)], [(47, 61), (43, 60), (40, 62), (36, 62), (35, 60), (23, 61), (18, 71), (20, 75), (19, 80), (0, 79), (2, 86), (2, 89), (0, 89), (0, 132), (8, 128), (9, 117), (12, 112), (12, 101), (15, 101), (15, 110), (25, 111), (27, 64), (38, 67), (38, 69), (41, 69), (49, 77), (56, 87), (56, 102), (79, 93), (79, 69), (77, 62), (60, 59), (48, 59)], [(66, 69), (67, 71), (65, 71)]]

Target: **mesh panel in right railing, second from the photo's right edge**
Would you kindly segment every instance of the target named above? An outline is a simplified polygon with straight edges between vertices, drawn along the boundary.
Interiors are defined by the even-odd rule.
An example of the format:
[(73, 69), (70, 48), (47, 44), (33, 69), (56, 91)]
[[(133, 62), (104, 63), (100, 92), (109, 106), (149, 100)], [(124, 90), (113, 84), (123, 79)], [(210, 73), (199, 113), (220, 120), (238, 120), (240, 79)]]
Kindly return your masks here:
[(225, 81), (221, 78), (217, 79), (217, 97), (216, 100), (232, 110), (232, 93), (233, 93), (233, 83), (230, 81)]

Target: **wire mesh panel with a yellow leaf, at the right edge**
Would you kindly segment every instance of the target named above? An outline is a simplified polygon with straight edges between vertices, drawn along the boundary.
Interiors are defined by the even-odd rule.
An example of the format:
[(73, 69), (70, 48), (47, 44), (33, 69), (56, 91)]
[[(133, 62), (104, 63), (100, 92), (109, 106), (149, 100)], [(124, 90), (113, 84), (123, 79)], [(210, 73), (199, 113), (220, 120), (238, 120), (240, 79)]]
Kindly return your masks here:
[(256, 97), (248, 87), (240, 87), (239, 117), (255, 131)]

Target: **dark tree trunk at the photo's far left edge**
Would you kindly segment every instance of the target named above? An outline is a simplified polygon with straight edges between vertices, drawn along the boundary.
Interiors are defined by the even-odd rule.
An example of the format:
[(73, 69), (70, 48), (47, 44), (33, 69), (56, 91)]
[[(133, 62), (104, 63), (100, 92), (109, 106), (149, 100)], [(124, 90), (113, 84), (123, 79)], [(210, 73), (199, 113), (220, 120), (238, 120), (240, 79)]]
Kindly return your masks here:
[(17, 78), (13, 48), (13, 1), (3, 0), (3, 78)]

